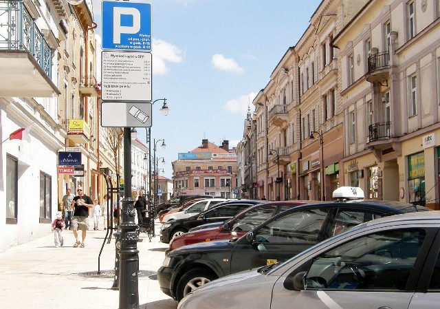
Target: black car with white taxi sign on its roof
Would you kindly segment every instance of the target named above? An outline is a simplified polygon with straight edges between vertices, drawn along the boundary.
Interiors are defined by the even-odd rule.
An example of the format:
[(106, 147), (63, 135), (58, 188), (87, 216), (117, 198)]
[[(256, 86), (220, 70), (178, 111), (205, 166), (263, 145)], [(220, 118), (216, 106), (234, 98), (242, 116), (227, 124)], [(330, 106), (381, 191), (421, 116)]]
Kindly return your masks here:
[(157, 271), (157, 279), (162, 292), (180, 301), (194, 287), (241, 270), (282, 262), (362, 222), (428, 210), (379, 200), (297, 206), (239, 239), (201, 242), (170, 251)]

